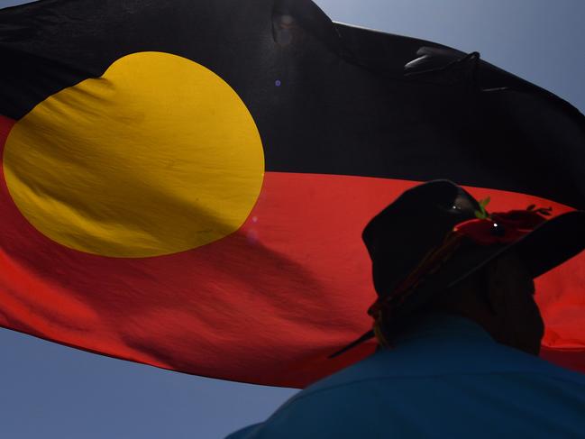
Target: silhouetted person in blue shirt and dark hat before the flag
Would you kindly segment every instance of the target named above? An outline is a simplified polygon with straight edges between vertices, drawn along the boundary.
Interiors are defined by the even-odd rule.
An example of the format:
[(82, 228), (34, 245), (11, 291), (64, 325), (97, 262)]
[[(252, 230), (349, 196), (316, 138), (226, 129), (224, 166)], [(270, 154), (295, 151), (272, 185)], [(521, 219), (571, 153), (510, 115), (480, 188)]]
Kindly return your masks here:
[(585, 212), (548, 215), (489, 215), (446, 180), (405, 192), (363, 233), (373, 330), (337, 353), (377, 352), (230, 439), (585, 438), (585, 376), (537, 357), (533, 281), (585, 248)]

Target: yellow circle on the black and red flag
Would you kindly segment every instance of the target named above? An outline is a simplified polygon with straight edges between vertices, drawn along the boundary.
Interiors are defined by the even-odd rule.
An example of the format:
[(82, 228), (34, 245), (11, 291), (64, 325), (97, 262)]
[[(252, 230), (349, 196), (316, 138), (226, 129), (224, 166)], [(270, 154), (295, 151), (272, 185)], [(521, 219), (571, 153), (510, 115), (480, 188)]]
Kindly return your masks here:
[(141, 52), (35, 106), (14, 124), (3, 166), (14, 204), (51, 240), (140, 258), (238, 230), (260, 194), (264, 153), (224, 79)]

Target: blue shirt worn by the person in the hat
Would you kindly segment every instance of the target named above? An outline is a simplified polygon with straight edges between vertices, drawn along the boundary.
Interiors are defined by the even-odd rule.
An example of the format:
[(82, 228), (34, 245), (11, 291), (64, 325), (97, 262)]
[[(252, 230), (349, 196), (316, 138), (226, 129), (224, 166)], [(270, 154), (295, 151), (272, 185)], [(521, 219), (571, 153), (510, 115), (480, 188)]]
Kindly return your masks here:
[(585, 438), (585, 376), (435, 314), (228, 436), (393, 437)]

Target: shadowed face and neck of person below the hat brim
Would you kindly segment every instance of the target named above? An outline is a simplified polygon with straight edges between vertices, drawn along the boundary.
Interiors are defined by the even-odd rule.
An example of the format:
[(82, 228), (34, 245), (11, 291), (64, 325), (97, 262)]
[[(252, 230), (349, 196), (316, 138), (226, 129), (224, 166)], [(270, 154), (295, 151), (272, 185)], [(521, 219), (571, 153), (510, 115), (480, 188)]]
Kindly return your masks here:
[(537, 355), (544, 322), (526, 264), (508, 252), (434, 296), (425, 311), (468, 317), (498, 342)]

